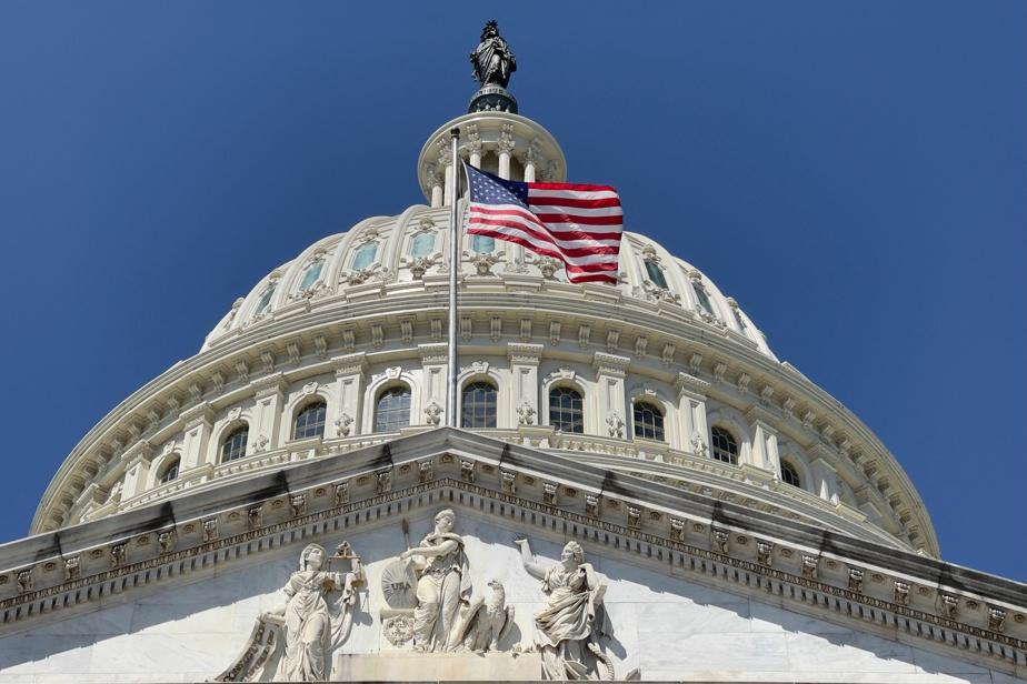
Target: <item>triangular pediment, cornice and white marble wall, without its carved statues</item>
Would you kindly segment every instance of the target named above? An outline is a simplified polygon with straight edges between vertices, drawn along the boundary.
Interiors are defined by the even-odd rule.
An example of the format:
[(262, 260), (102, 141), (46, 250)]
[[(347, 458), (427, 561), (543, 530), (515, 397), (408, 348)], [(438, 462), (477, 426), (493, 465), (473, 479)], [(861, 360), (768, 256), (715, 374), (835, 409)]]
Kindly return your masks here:
[[(333, 676), (403, 658), (421, 671), (452, 672), (455, 655), (412, 653), (396, 624), (412, 616), (382, 589), (407, 547), (403, 521), (416, 545), (441, 509), (456, 513), (471, 596), (488, 596), (496, 581), (514, 608), (496, 652), (481, 656), (500, 671), (512, 667), (501, 658), (534, 667), (534, 616), (547, 605), (515, 543), (521, 537), (547, 566), (568, 541), (581, 545), (606, 585), (602, 650), (618, 678), (975, 681), (1024, 663), (1019, 637), (989, 630), (987, 615), (973, 624), (979, 616), (967, 607), (1008, 606), (1021, 591), (1015, 583), (990, 579), (989, 586), (987, 576), (964, 575), (957, 589), (939, 586), (934, 574), (928, 584), (926, 559), (438, 430), (70, 529), (54, 560), (46, 553), (52, 539), (9, 545), (2, 567), (31, 567), (39, 583), (0, 602), (0, 671), (68, 681), (211, 678), (252, 645), (256, 618), (282, 603), (301, 551), (317, 543), (332, 553), (346, 542), (360, 557), (363, 583), (332, 655)], [(78, 576), (44, 570), (72, 554)], [(352, 569), (351, 560), (335, 563), (333, 571)], [(920, 591), (928, 586), (931, 602)], [(943, 592), (960, 596), (966, 622), (923, 610)], [(1024, 605), (1019, 597), (1014, 606)], [(277, 656), (268, 655), (246, 672), (272, 676)], [(388, 678), (389, 671), (375, 672)]]

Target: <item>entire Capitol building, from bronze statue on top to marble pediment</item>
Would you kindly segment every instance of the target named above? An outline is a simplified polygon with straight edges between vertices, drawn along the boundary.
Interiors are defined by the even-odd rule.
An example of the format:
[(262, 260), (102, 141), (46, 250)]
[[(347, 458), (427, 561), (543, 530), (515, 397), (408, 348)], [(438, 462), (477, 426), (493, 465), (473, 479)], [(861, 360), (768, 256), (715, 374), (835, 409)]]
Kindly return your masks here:
[(568, 177), (495, 23), (471, 57), (423, 203), (269, 268), (67, 456), (0, 545), (0, 682), (1027, 676), (1027, 587), (940, 560), (898, 460), (630, 208), (615, 284), (450, 261), (452, 128)]

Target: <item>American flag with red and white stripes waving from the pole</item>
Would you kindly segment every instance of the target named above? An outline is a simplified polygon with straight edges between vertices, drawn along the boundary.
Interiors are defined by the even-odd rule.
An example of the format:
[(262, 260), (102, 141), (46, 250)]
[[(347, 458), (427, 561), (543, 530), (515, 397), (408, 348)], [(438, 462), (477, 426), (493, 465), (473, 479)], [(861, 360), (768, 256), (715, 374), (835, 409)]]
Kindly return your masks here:
[(520, 244), (564, 262), (572, 283), (617, 282), (624, 218), (609, 185), (525, 183), (466, 164), (467, 232)]

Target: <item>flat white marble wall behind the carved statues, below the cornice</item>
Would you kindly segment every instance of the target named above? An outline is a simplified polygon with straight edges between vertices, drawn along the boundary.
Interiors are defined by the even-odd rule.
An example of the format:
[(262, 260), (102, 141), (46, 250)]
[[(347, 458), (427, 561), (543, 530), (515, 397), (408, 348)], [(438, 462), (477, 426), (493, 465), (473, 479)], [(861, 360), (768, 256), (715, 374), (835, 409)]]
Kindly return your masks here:
[[(420, 539), (427, 512), (411, 524)], [(489, 580), (506, 587), (516, 627), (503, 650), (529, 644), (532, 615), (544, 604), (539, 583), (521, 565), (512, 540), (520, 532), (498, 521), (458, 511), (475, 592)], [(348, 541), (366, 563), (367, 585), (342, 653), (395, 652), (381, 633), (382, 569), (403, 550), (395, 524), (367, 532), (297, 539), (275, 552), (226, 563), (207, 579), (173, 582), (119, 603), (104, 600), (76, 617), (11, 633), (0, 640), (0, 684), (13, 682), (206, 681), (243, 647), (258, 614), (280, 603), (280, 589), (309, 542), (335, 547)], [(559, 559), (557, 539), (530, 535), (542, 560)], [(638, 670), (642, 680), (751, 682), (1014, 682), (1011, 677), (766, 602), (715, 591), (681, 579), (602, 557), (586, 546), (589, 562), (609, 584), (604, 604), (612, 623), (607, 643), (618, 676)], [(138, 592), (133, 596), (138, 596)]]

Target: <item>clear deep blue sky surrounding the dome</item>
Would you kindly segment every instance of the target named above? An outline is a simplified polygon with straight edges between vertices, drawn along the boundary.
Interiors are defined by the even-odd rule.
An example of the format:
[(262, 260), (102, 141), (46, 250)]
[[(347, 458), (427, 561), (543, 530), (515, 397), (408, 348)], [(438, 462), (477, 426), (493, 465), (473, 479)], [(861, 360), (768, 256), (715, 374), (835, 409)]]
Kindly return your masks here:
[(574, 180), (1027, 580), (1027, 2), (0, 4), (0, 540), (271, 268), (422, 201), (497, 18)]

